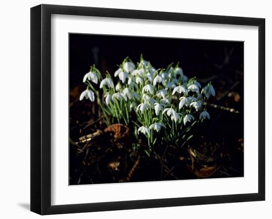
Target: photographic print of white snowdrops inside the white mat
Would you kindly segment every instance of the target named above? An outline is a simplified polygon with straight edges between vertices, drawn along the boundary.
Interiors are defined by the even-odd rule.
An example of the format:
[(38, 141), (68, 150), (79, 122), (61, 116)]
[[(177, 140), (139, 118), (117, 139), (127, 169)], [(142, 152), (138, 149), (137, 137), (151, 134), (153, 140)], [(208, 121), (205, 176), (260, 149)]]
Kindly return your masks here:
[(243, 42), (70, 33), (69, 185), (243, 177), (243, 73)]

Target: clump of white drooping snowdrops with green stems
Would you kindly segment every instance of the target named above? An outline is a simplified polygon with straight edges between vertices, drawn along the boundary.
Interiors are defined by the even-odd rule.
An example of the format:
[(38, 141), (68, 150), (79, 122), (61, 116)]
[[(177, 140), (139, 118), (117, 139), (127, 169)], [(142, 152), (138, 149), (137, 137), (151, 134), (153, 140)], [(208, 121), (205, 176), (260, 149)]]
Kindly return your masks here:
[(127, 57), (118, 67), (114, 80), (109, 72), (102, 78), (91, 66), (80, 100), (96, 99), (107, 125), (134, 124), (135, 139), (139, 134), (147, 139), (148, 154), (156, 142), (183, 146), (193, 136), (190, 129), (210, 119), (203, 103), (215, 96), (215, 89), (211, 83), (202, 88), (195, 78), (188, 80), (179, 63), (156, 69), (141, 56), (137, 64)]

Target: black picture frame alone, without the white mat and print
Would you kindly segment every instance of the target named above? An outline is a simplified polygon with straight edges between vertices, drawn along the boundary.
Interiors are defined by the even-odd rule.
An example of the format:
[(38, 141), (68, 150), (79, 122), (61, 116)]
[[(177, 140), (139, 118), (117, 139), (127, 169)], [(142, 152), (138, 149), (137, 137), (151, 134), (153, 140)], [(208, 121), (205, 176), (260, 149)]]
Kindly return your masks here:
[[(51, 14), (257, 26), (258, 193), (51, 205)], [(31, 8), (31, 211), (41, 215), (265, 200), (265, 19), (41, 4)]]

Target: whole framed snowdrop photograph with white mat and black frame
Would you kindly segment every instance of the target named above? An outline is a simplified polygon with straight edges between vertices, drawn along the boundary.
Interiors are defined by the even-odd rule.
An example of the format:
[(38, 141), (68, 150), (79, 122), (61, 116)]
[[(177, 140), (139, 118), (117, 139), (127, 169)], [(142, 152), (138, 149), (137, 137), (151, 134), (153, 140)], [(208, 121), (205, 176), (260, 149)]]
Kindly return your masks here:
[(31, 8), (31, 211), (265, 200), (265, 19)]

